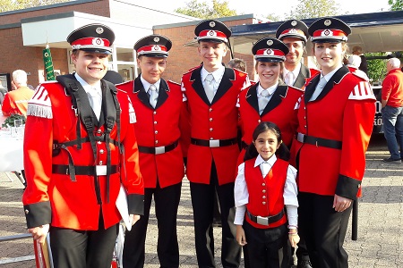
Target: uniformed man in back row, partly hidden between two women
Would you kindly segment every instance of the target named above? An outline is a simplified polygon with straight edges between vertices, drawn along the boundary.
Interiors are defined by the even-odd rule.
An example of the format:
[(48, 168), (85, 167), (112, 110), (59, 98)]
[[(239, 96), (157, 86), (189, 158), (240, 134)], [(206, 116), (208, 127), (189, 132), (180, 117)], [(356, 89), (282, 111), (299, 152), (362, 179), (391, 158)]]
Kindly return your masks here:
[(304, 21), (299, 20), (285, 21), (276, 31), (276, 38), (286, 44), (289, 51), (282, 73), (282, 79), (288, 86), (303, 88), (305, 80), (319, 72), (302, 63), (308, 37), (308, 27)]

